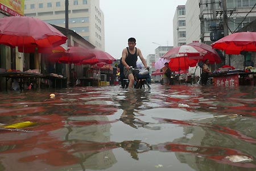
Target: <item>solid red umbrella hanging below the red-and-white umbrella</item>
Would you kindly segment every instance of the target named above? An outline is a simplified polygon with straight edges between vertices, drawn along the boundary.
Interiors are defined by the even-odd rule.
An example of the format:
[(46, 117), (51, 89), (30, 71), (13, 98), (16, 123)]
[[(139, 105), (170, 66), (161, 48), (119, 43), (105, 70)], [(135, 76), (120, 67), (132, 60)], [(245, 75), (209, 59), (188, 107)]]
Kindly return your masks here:
[(169, 67), (172, 71), (187, 70), (189, 66), (196, 66), (197, 60), (189, 59), (187, 56), (172, 58)]

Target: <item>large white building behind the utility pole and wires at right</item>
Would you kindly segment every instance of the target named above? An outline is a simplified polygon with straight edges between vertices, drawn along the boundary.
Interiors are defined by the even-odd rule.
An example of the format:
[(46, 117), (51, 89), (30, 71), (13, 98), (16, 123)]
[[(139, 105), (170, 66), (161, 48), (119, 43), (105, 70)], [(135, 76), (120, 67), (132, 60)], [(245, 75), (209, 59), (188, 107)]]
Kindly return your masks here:
[[(253, 7), (255, 3), (256, 0), (226, 0), (229, 34), (256, 19), (256, 9)], [(187, 0), (185, 12), (186, 27), (189, 28), (186, 31), (187, 44), (192, 41), (212, 44), (211, 32), (213, 34), (214, 30), (220, 30), (220, 34), (224, 34), (222, 1)]]

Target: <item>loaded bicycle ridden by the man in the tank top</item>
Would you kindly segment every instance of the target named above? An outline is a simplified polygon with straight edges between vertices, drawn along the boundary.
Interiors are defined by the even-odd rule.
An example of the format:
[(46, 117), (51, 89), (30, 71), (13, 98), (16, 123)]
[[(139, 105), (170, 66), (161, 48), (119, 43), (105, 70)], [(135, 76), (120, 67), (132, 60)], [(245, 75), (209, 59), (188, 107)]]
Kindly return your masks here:
[[(148, 87), (148, 89), (151, 89), (150, 85), (147, 82), (147, 79), (150, 78), (149, 75), (149, 67), (146, 67), (144, 69), (134, 69), (132, 66), (130, 67), (131, 71), (133, 72), (135, 84), (134, 89), (145, 89), (145, 85)], [(127, 89), (129, 85), (128, 79), (123, 79), (124, 81), (124, 88)]]

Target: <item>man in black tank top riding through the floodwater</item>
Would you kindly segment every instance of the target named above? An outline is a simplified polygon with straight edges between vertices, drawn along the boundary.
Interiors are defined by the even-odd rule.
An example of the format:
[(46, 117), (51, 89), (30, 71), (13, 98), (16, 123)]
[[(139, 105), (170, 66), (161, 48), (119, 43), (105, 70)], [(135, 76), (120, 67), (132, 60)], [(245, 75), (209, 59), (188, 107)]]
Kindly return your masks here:
[(122, 64), (123, 64), (123, 73), (125, 74), (125, 77), (129, 80), (129, 88), (133, 87), (134, 84), (134, 76), (133, 72), (131, 71), (130, 66), (133, 68), (137, 68), (137, 60), (138, 56), (142, 61), (142, 64), (147, 67), (146, 60), (144, 59), (141, 49), (136, 48), (136, 39), (134, 37), (131, 37), (128, 39), (128, 47), (123, 49), (122, 52)]

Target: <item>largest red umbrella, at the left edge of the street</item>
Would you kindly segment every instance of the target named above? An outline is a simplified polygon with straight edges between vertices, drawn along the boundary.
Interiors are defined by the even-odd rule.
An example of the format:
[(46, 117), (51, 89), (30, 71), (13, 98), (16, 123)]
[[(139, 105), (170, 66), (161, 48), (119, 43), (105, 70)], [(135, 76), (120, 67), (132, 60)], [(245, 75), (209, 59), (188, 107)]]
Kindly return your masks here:
[[(29, 16), (0, 18), (0, 44), (19, 47), (19, 52), (56, 47), (64, 44), (67, 37), (50, 24)], [(25, 51), (26, 52), (26, 51)]]

